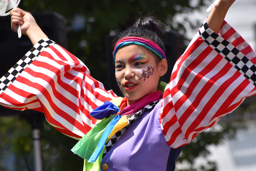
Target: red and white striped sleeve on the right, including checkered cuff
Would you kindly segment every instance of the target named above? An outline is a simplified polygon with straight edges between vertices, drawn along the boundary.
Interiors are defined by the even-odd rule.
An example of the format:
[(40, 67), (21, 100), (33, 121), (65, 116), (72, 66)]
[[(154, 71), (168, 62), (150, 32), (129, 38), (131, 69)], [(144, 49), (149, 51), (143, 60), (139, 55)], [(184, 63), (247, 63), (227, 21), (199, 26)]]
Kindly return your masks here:
[(205, 21), (177, 60), (163, 94), (160, 123), (167, 144), (188, 144), (256, 94), (256, 54), (226, 22), (215, 34)]

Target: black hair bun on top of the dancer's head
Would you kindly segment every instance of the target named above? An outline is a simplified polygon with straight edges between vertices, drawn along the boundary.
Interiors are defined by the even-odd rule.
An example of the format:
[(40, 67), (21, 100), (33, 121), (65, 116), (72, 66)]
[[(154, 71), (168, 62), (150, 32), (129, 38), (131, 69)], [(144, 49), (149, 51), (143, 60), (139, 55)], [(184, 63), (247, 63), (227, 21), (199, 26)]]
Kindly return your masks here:
[(140, 17), (132, 27), (142, 28), (155, 32), (160, 38), (165, 35), (165, 24), (154, 16)]

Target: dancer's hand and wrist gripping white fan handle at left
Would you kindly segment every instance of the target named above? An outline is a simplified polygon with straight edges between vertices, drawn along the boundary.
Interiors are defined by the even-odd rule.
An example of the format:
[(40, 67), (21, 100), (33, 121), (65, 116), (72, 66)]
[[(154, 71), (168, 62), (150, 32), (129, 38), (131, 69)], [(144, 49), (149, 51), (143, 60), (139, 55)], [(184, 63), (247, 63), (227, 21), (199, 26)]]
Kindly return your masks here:
[(33, 45), (35, 45), (39, 40), (47, 38), (47, 36), (35, 22), (35, 19), (30, 12), (18, 8), (12, 9), (10, 13), (12, 31), (17, 33), (17, 24), (19, 24), (21, 33), (27, 35)]

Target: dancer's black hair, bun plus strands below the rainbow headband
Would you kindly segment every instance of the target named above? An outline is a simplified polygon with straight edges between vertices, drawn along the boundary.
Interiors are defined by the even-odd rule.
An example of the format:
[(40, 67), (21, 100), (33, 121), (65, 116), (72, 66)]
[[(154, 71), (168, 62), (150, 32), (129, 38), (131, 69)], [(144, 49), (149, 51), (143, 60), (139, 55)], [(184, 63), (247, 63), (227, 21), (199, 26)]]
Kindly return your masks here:
[[(113, 41), (113, 44), (115, 45), (116, 42), (121, 38), (128, 36), (140, 37), (155, 42), (165, 53), (165, 46), (161, 39), (165, 36), (165, 24), (156, 19), (154, 16), (144, 16), (138, 18), (132, 27), (127, 28), (127, 30), (117, 35)], [(155, 62), (158, 65), (161, 59), (151, 50), (148, 50), (148, 52), (153, 54), (155, 57)]]

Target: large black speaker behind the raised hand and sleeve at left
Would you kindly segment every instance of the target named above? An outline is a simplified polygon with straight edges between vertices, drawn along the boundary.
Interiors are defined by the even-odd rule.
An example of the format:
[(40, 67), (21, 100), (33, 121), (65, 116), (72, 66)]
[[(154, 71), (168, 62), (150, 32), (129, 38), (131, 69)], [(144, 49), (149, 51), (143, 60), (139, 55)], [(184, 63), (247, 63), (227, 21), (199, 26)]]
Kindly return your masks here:
[[(53, 41), (67, 49), (67, 29), (66, 20), (57, 13), (44, 13), (33, 15), (38, 26)], [(0, 17), (0, 77), (16, 64), (33, 47), (30, 39), (22, 35), (19, 39), (18, 34), (11, 30), (11, 16)], [(0, 115), (31, 115), (42, 116), (37, 111), (16, 111), (0, 106)]]

